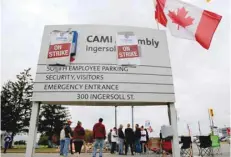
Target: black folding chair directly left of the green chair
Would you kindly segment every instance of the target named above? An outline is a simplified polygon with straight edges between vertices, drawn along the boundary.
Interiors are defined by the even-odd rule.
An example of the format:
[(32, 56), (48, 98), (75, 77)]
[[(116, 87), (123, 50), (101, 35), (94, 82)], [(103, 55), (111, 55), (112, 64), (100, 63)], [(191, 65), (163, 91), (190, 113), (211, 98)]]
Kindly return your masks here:
[(212, 141), (210, 139), (210, 136), (199, 136), (199, 155), (202, 157), (205, 155), (211, 155), (212, 153)]

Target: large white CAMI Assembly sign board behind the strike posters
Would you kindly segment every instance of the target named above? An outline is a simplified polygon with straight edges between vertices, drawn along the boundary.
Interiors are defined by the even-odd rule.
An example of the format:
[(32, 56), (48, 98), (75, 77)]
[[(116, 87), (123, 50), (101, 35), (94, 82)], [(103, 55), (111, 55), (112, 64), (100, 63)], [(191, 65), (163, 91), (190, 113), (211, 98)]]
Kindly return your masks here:
[[(49, 66), (50, 33), (78, 34), (68, 66)], [(120, 66), (116, 37), (132, 32), (139, 64)], [(76, 105), (160, 105), (174, 102), (174, 88), (165, 31), (122, 26), (46, 26), (36, 73), (33, 101)]]

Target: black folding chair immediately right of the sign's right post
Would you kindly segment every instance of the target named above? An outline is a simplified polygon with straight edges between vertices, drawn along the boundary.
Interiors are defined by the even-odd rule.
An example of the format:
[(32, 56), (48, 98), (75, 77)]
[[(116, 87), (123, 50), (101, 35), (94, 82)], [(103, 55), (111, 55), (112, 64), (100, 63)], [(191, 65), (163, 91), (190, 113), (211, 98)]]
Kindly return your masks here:
[(192, 150), (192, 140), (190, 136), (181, 136), (181, 141), (183, 145), (181, 146), (180, 154), (182, 157), (193, 157)]

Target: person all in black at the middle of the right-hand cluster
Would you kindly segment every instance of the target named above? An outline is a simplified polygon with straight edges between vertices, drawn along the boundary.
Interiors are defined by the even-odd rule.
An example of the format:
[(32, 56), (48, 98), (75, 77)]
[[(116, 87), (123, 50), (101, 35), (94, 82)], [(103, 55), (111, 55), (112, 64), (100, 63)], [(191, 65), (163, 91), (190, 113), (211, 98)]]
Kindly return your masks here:
[(125, 141), (126, 141), (125, 155), (127, 155), (127, 153), (128, 153), (128, 146), (130, 146), (131, 153), (132, 153), (132, 155), (134, 155), (133, 154), (134, 132), (130, 128), (130, 124), (128, 124), (127, 128), (125, 129)]

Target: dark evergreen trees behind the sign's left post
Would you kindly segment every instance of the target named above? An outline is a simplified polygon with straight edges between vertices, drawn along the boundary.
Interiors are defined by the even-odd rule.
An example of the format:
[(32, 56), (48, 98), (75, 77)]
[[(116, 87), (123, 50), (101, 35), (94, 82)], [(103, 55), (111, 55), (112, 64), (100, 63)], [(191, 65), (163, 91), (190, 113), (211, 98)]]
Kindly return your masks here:
[[(34, 85), (30, 70), (25, 69), (16, 75), (15, 81), (7, 81), (1, 88), (1, 130), (10, 133), (12, 139), (18, 133), (29, 131), (32, 107), (30, 99)], [(41, 104), (38, 132), (42, 138), (51, 138), (53, 135), (59, 137), (63, 124), (69, 118), (71, 117), (67, 107)]]

